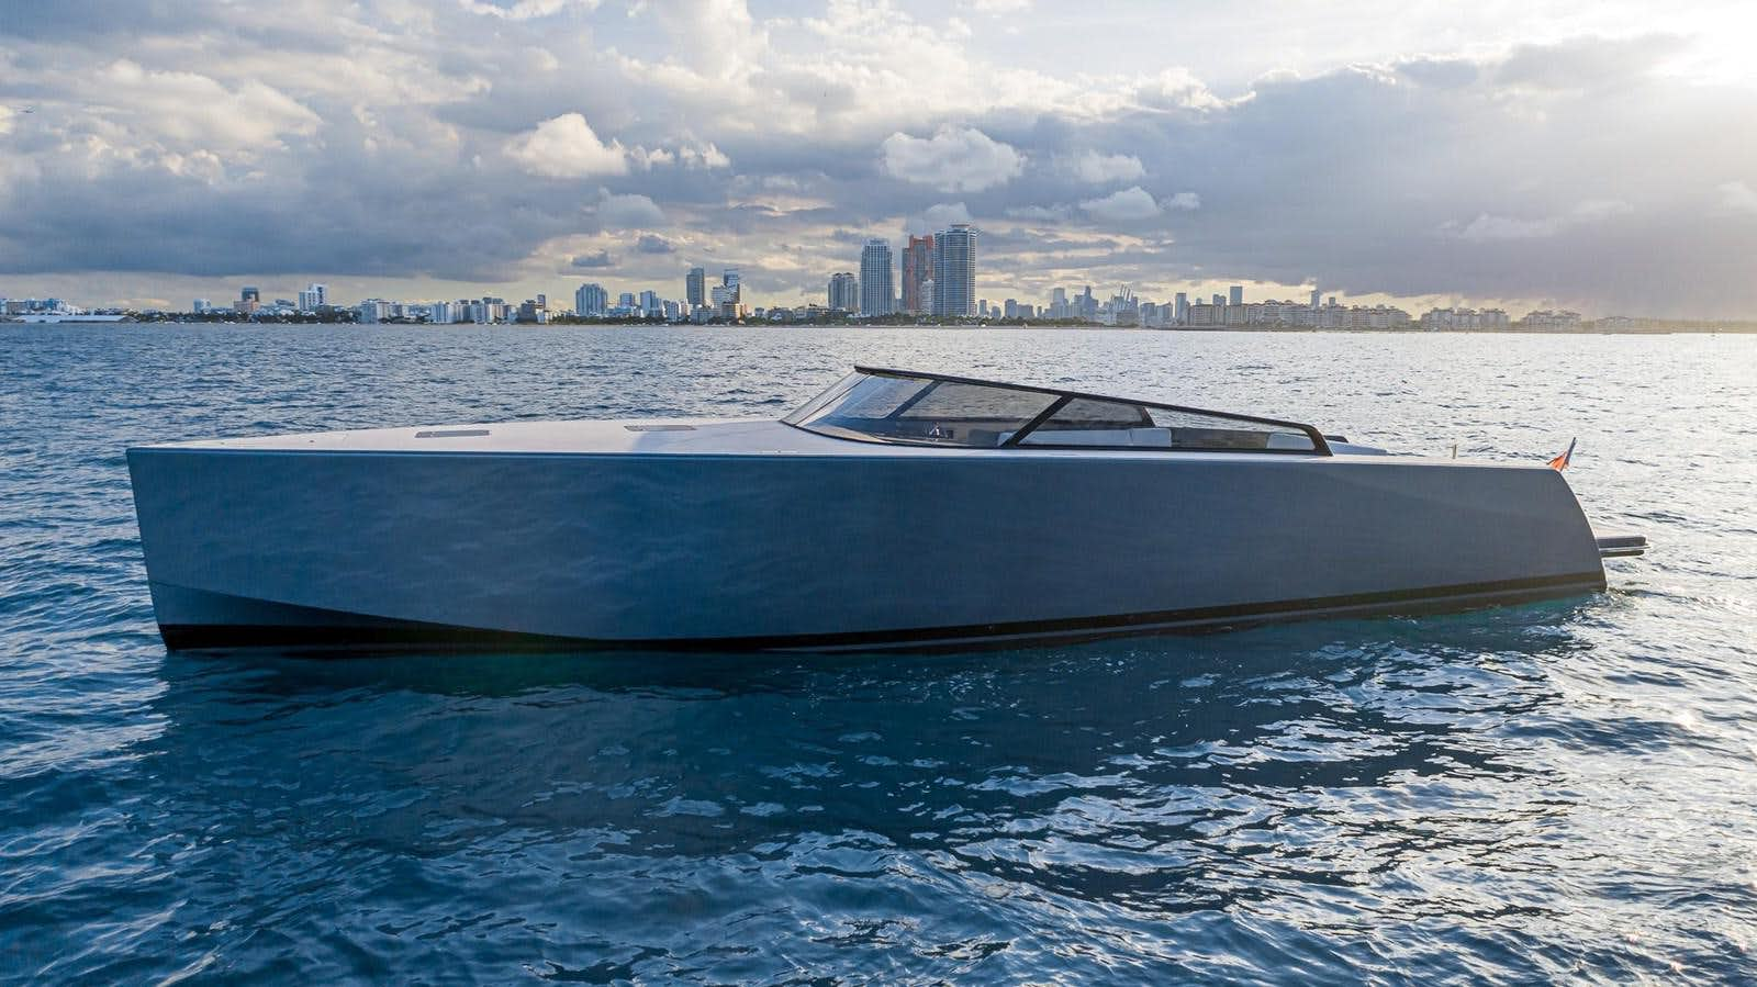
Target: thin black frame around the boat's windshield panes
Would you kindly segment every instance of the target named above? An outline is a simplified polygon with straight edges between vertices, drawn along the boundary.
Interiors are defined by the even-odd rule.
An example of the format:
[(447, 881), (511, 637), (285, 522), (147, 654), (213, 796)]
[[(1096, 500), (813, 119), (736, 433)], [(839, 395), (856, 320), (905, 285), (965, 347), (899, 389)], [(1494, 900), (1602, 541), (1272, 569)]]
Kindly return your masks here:
[[(866, 434), (866, 432), (856, 432), (856, 430), (850, 430), (850, 429), (835, 429), (835, 430), (829, 430), (829, 429), (813, 429), (808, 423), (808, 420), (810, 420), (812, 414), (817, 414), (826, 406), (829, 406), (831, 402), (835, 402), (836, 399), (840, 399), (842, 395), (845, 395), (849, 390), (852, 390), (856, 385), (859, 385), (863, 379), (868, 379), (868, 378), (896, 378), (896, 379), (907, 379), (907, 381), (929, 383), (929, 388), (924, 388), (924, 390), (933, 390), (931, 385), (952, 383), (952, 385), (972, 385), (972, 386), (1014, 390), (1014, 392), (1026, 392), (1026, 393), (1044, 393), (1044, 395), (1052, 395), (1054, 400), (1051, 400), (1047, 407), (1044, 407), (1040, 413), (1037, 413), (1035, 418), (1031, 418), (1030, 421), (1019, 425), (1019, 429), (1012, 436), (1009, 436), (1005, 443), (1001, 443), (998, 446), (947, 446), (944, 443), (908, 439), (908, 437), (898, 437), (898, 436), (875, 436), (875, 434)], [(914, 400), (919, 400), (919, 397), (922, 397), (922, 395), (917, 395), (917, 399), (914, 399)], [(1045, 421), (1049, 421), (1051, 418), (1054, 418), (1054, 414), (1058, 411), (1061, 411), (1063, 407), (1066, 407), (1068, 402), (1081, 400), (1081, 399), (1086, 399), (1086, 400), (1102, 400), (1102, 402), (1116, 402), (1116, 404), (1133, 404), (1133, 406), (1140, 406), (1144, 409), (1153, 407), (1153, 409), (1172, 411), (1172, 413), (1200, 414), (1200, 416), (1219, 418), (1219, 420), (1228, 420), (1228, 421), (1242, 421), (1242, 423), (1249, 423), (1249, 425), (1272, 425), (1272, 427), (1276, 427), (1279, 430), (1304, 434), (1311, 441), (1312, 448), (1309, 448), (1309, 450), (1270, 450), (1270, 448), (1262, 448), (1262, 450), (1258, 450), (1258, 448), (1204, 450), (1204, 448), (1177, 448), (1177, 446), (1172, 446), (1172, 448), (1154, 448), (1154, 446), (1054, 444), (1054, 443), (1028, 443), (1028, 444), (1021, 444), (1028, 436), (1031, 436), (1031, 432), (1035, 432), (1040, 425), (1044, 425)], [(1033, 385), (1014, 385), (1014, 383), (1005, 383), (1005, 381), (986, 381), (986, 379), (980, 379), (980, 378), (959, 378), (959, 376), (954, 376), (954, 374), (933, 374), (933, 372), (924, 372), (924, 371), (898, 371), (898, 369), (889, 369), (889, 367), (864, 367), (864, 365), (859, 365), (859, 364), (854, 365), (854, 371), (850, 374), (847, 374), (845, 378), (842, 378), (840, 381), (836, 381), (835, 385), (831, 385), (829, 388), (826, 388), (822, 393), (819, 393), (817, 397), (813, 397), (812, 400), (805, 402), (796, 411), (792, 411), (785, 418), (782, 418), (782, 423), (784, 425), (791, 425), (794, 429), (799, 429), (803, 432), (812, 432), (813, 436), (824, 436), (824, 437), (831, 437), (831, 439), (847, 439), (850, 443), (873, 443), (873, 444), (880, 444), (880, 446), (926, 446), (926, 448), (963, 448), (963, 450), (1017, 450), (1017, 448), (1024, 448), (1024, 450), (1084, 450), (1084, 451), (1137, 451), (1137, 453), (1247, 453), (1247, 455), (1293, 455), (1293, 457), (1330, 457), (1330, 455), (1335, 455), (1335, 453), (1330, 451), (1330, 443), (1325, 441), (1323, 432), (1320, 432), (1316, 427), (1305, 425), (1302, 421), (1286, 421), (1286, 420), (1281, 420), (1281, 418), (1263, 418), (1263, 416), (1258, 416), (1258, 414), (1239, 414), (1235, 411), (1212, 411), (1212, 409), (1207, 409), (1207, 407), (1189, 407), (1189, 406), (1182, 406), (1182, 404), (1167, 404), (1163, 400), (1140, 400), (1140, 399), (1133, 399), (1133, 397), (1116, 397), (1116, 395), (1103, 395), (1103, 393), (1091, 393), (1091, 392), (1079, 392), (1079, 390), (1063, 390), (1063, 388), (1045, 388), (1045, 386), (1033, 386)]]

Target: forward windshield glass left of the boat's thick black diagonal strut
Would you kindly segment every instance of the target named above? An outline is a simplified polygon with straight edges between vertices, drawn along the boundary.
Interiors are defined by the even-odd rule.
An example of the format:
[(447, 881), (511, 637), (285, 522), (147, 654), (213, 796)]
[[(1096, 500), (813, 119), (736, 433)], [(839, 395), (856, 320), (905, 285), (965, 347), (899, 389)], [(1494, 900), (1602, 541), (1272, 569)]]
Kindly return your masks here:
[(826, 397), (785, 421), (849, 439), (977, 448), (1000, 446), (1056, 402), (1054, 393), (891, 374), (863, 374)]

